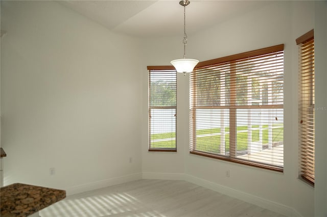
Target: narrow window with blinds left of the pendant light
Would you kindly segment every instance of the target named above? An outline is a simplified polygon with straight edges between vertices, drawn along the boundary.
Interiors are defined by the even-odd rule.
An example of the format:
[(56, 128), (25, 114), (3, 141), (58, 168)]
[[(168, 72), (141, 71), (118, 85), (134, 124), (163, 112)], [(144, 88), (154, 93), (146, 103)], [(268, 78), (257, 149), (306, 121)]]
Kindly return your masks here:
[(150, 67), (149, 151), (176, 151), (176, 70)]

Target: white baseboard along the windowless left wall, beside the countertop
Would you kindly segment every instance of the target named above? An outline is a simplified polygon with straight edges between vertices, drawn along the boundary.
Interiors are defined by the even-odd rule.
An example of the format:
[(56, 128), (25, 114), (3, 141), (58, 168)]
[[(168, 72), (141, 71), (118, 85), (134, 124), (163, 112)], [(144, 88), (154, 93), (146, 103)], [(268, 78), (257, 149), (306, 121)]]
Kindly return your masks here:
[(108, 187), (115, 184), (122, 184), (125, 182), (135, 181), (142, 179), (142, 173), (134, 173), (126, 176), (114, 177), (106, 180), (96, 181), (87, 184), (81, 184), (73, 187), (66, 188), (66, 195), (75, 195), (82, 192), (88, 192), (95, 189)]

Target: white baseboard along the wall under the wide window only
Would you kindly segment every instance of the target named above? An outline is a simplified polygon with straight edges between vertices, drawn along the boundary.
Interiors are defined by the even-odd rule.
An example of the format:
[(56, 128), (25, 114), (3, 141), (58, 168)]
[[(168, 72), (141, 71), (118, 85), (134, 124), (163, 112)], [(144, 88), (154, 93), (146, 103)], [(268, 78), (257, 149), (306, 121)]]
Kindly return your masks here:
[(254, 195), (247, 194), (245, 192), (237, 191), (236, 189), (232, 189), (211, 181), (207, 181), (205, 179), (200, 179), (195, 176), (191, 176), (188, 174), (184, 174), (185, 181), (189, 181), (191, 183), (212, 189), (213, 191), (219, 192), (224, 195), (228, 195), (233, 198), (237, 198), (251, 204), (269, 209), (271, 211), (284, 214), (286, 216), (301, 216), (294, 208), (285, 206), (283, 204), (276, 203), (274, 201), (270, 201), (264, 198), (260, 198)]

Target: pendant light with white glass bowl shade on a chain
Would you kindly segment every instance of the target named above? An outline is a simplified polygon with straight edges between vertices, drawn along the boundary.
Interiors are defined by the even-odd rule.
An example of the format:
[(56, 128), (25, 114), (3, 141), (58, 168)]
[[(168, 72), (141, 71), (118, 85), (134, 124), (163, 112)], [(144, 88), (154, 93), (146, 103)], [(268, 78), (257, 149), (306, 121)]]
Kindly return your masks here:
[(189, 0), (182, 0), (179, 2), (179, 5), (184, 7), (184, 37), (183, 37), (183, 44), (184, 44), (184, 59), (177, 59), (173, 60), (170, 63), (175, 67), (177, 72), (182, 72), (184, 75), (186, 72), (192, 72), (196, 64), (198, 64), (198, 60), (194, 59), (186, 59), (186, 52), (185, 46), (188, 43), (188, 35), (186, 35), (186, 25), (185, 25), (185, 7), (190, 4)]

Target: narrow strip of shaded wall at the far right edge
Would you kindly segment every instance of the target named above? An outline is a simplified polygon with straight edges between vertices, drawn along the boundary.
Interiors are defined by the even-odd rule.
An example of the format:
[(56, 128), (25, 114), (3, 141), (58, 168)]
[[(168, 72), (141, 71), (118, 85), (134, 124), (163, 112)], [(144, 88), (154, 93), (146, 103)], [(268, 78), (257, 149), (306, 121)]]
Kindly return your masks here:
[(327, 216), (327, 2), (315, 2), (315, 216)]

